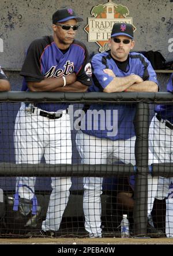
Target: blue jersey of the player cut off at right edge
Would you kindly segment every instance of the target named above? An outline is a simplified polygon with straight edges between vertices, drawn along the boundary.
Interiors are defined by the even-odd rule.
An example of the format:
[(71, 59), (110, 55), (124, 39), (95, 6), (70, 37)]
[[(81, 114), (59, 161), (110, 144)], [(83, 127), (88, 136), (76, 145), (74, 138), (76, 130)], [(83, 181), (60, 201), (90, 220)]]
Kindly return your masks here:
[[(173, 92), (173, 73), (167, 83), (167, 91)], [(155, 112), (164, 120), (170, 121), (173, 124), (173, 105), (157, 105)]]

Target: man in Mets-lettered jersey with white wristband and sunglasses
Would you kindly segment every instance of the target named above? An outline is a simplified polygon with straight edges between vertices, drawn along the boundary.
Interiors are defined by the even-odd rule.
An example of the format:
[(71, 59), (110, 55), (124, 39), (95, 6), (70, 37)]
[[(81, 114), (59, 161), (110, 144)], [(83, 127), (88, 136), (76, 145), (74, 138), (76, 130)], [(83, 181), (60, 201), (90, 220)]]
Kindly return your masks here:
[[(59, 9), (52, 16), (53, 36), (34, 40), (21, 69), (23, 91), (85, 92), (91, 86), (88, 51), (75, 40), (79, 22), (72, 9)], [(48, 164), (71, 164), (72, 141), (67, 103), (22, 103), (14, 129), (16, 163), (37, 164), (43, 155)], [(58, 231), (67, 201), (70, 177), (52, 177), (52, 192), (43, 232)], [(21, 198), (32, 199), (35, 178), (19, 177)]]

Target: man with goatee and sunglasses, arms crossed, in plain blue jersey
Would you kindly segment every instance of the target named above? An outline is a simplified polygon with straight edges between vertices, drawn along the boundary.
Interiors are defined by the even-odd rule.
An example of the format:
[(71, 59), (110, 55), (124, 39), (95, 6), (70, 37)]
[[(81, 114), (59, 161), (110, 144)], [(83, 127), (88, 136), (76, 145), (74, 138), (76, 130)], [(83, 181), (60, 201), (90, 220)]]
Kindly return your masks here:
[[(151, 63), (142, 54), (130, 53), (134, 47), (133, 26), (115, 23), (108, 43), (109, 51), (92, 58), (94, 84), (89, 91), (157, 92), (156, 73)], [(135, 165), (135, 111), (135, 105), (89, 106), (76, 138), (82, 163), (107, 164), (111, 155), (117, 161)], [(100, 114), (95, 118), (93, 113)], [(100, 177), (84, 179), (85, 229), (91, 238), (101, 237), (102, 181)]]

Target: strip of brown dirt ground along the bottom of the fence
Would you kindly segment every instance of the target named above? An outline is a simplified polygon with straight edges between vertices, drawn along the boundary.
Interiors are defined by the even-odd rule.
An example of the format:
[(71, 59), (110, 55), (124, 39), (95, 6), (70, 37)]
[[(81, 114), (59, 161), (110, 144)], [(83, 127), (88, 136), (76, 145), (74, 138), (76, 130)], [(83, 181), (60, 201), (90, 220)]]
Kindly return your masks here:
[(0, 244), (173, 244), (173, 238), (5, 238)]

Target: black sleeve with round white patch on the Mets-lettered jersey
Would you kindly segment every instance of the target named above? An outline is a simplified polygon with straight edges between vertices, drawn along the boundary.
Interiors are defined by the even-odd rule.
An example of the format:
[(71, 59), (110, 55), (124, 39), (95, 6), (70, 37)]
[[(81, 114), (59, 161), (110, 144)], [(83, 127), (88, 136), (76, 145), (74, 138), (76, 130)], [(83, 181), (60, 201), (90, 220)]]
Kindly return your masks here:
[(82, 84), (85, 84), (85, 86), (91, 86), (92, 85), (91, 62), (89, 61), (89, 54), (88, 54), (88, 50), (86, 49), (86, 46), (82, 44), (82, 47), (84, 48), (84, 61), (82, 62), (80, 70), (77, 73), (77, 81), (80, 81)]

